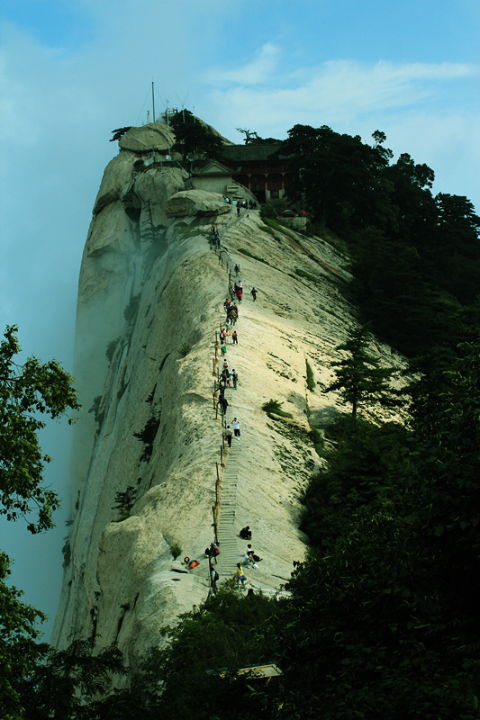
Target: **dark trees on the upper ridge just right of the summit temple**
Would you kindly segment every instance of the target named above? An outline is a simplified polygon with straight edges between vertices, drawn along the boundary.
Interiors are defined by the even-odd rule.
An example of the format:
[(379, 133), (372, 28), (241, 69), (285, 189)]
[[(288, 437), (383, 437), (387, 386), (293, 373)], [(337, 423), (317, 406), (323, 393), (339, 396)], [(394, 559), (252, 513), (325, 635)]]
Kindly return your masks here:
[[(333, 231), (349, 246), (349, 299), (376, 334), (408, 356), (451, 331), (452, 311), (480, 293), (480, 219), (466, 197), (431, 187), (433, 170), (358, 136), (295, 125), (276, 155), (288, 156), (287, 191), (303, 202), (316, 234)], [(313, 227), (311, 225), (311, 227)]]

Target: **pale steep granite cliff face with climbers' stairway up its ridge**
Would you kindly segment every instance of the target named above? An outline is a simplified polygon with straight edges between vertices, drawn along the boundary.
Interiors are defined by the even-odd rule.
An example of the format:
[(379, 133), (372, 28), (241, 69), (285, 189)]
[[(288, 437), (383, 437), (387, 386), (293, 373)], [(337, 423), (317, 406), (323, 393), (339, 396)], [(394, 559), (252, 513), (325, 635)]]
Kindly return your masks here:
[[(208, 594), (204, 548), (213, 540), (222, 445), (213, 404), (215, 331), (225, 317), (226, 264), (240, 265), (246, 293), (239, 344), (229, 339), (227, 346), (240, 386), (229, 392), (226, 419), (240, 420), (241, 446), (234, 442), (218, 468), (222, 577), (245, 549), (229, 527), (252, 529), (263, 557), (249, 572), (253, 587), (274, 592), (303, 558), (299, 494), (322, 464), (306, 432), (345, 410), (320, 387), (331, 379), (333, 348), (355, 323), (338, 290), (349, 281), (345, 259), (330, 245), (267, 229), (257, 211), (237, 218), (213, 193), (184, 192), (185, 171), (139, 162), (138, 130), (105, 169), (80, 272), (74, 374), (85, 410), (75, 428), (77, 503), (52, 637), (65, 647), (95, 631), (99, 646), (117, 640), (133, 664), (161, 642), (161, 626)], [(162, 132), (160, 150), (168, 148)], [(209, 247), (212, 223), (222, 261)], [(392, 362), (390, 348), (372, 349)], [(314, 392), (306, 387), (306, 361), (320, 384)], [(269, 419), (261, 405), (270, 398), (283, 401), (294, 420)], [(145, 428), (147, 443), (133, 435)], [(137, 490), (130, 517), (114, 522), (116, 493), (129, 486)], [(176, 572), (186, 554), (200, 566)]]

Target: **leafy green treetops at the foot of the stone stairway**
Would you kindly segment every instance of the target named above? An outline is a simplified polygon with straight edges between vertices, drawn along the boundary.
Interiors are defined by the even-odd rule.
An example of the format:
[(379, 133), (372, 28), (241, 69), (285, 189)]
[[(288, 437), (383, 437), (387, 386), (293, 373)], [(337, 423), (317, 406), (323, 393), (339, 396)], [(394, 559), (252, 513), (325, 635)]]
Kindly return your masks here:
[[(255, 680), (239, 677), (238, 671), (271, 662), (277, 603), (262, 595), (245, 597), (234, 582), (222, 586), (197, 612), (182, 616), (178, 626), (165, 628), (168, 645), (151, 653), (131, 689), (118, 693), (125, 716), (133, 720), (245, 717), (247, 686), (255, 685)], [(271, 682), (278, 684), (276, 679)], [(256, 713), (251, 716), (261, 717), (262, 710), (260, 699), (251, 698), (249, 712)]]

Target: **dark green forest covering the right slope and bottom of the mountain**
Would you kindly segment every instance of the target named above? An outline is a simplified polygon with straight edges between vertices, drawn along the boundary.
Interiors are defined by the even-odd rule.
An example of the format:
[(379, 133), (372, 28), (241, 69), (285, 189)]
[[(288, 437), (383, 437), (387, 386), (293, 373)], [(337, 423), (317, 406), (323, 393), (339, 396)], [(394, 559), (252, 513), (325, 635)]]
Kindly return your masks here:
[[(325, 447), (334, 449), (328, 472), (303, 494), (310, 554), (295, 563), (288, 595), (244, 598), (227, 585), (166, 629), (166, 648), (151, 653), (127, 689), (95, 686), (104, 698), (72, 684), (75, 662), (61, 665), (55, 653), (46, 658), (50, 676), (45, 653), (36, 668), (17, 663), (14, 697), (27, 680), (30, 693), (24, 718), (38, 717), (39, 707), (54, 716), (62, 678), (74, 688), (65, 718), (478, 718), (480, 220), (466, 198), (433, 197), (429, 167), (406, 154), (391, 165), (384, 142), (379, 131), (370, 147), (297, 125), (281, 153), (295, 171), (291, 198), (304, 199), (319, 234), (328, 226), (348, 243), (350, 298), (362, 318), (417, 356), (406, 423), (374, 424), (353, 411), (325, 429)], [(349, 358), (331, 385), (353, 410), (358, 401), (371, 406), (376, 393), (396, 400), (362, 332), (340, 347)], [(285, 415), (281, 405), (271, 400), (263, 410)], [(102, 679), (124, 671), (110, 652), (95, 666)], [(239, 673), (266, 662), (282, 675), (266, 683)]]

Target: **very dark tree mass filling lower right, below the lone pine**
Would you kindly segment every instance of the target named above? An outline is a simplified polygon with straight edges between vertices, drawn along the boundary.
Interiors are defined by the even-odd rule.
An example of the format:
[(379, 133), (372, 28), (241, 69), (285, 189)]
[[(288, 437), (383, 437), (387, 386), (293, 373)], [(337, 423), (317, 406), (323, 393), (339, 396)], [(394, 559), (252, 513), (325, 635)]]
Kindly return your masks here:
[(478, 717), (478, 307), (462, 320), (415, 368), (410, 433), (344, 426), (307, 490), (276, 717)]

